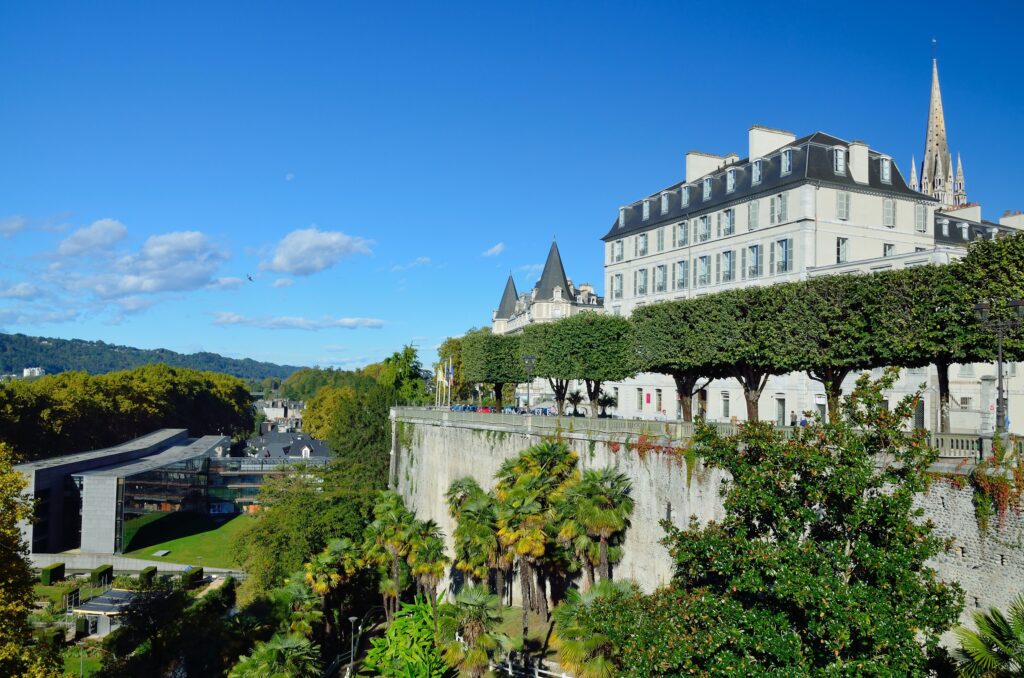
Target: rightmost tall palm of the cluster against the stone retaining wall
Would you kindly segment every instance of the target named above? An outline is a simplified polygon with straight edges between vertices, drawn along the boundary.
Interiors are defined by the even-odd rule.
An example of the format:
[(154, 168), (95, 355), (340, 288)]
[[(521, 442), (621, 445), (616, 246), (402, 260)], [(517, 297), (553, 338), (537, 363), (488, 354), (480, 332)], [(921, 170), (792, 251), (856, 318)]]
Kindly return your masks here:
[(633, 513), (632, 484), (625, 473), (605, 467), (586, 470), (580, 484), (570, 491), (578, 519), (587, 534), (599, 540), (598, 575), (611, 578), (609, 557), (612, 536), (630, 525)]

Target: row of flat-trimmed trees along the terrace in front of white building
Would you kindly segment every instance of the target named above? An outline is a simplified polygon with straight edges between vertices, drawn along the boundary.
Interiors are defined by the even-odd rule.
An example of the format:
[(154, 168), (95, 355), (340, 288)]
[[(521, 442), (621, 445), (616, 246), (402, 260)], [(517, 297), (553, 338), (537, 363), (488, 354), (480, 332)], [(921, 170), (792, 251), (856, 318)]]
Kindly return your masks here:
[[(715, 379), (743, 388), (748, 419), (773, 375), (806, 372), (825, 390), (838, 416), (843, 381), (880, 367), (934, 365), (939, 375), (941, 428), (949, 426), (949, 367), (989, 362), (995, 336), (974, 319), (992, 300), (993, 319), (1024, 297), (1024, 235), (971, 246), (966, 258), (870, 274), (839, 274), (749, 287), (642, 306), (630, 320), (581, 313), (528, 326), (521, 335), (467, 335), (468, 381), (500, 386), (547, 378), (562, 411), (570, 381), (583, 381), (596, 416), (601, 385), (642, 372), (671, 376), (689, 419), (691, 398)], [(1024, 356), (1024, 335), (1007, 337), (1011, 358)], [(499, 401), (500, 404), (500, 401)]]

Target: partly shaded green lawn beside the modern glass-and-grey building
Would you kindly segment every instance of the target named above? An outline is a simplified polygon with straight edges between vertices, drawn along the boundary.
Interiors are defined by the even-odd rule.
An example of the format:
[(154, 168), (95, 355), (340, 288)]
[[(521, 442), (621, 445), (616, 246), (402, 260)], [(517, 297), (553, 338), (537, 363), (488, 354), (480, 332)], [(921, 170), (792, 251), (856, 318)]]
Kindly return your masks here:
[[(251, 515), (212, 516), (198, 513), (168, 513), (160, 520), (142, 525), (132, 541), (129, 558), (166, 560), (187, 565), (233, 567), (228, 548), (231, 537), (256, 518)], [(168, 550), (160, 558), (154, 551)]]

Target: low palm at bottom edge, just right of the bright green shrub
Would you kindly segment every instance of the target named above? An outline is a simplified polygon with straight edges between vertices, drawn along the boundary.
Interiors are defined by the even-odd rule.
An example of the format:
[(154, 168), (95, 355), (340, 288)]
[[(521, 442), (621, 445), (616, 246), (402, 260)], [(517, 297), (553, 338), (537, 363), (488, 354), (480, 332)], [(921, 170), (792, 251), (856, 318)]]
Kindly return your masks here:
[(471, 678), (480, 678), (498, 649), (507, 644), (507, 637), (494, 632), (501, 622), (498, 596), (480, 586), (460, 591), (440, 608), (437, 638), (444, 661)]

